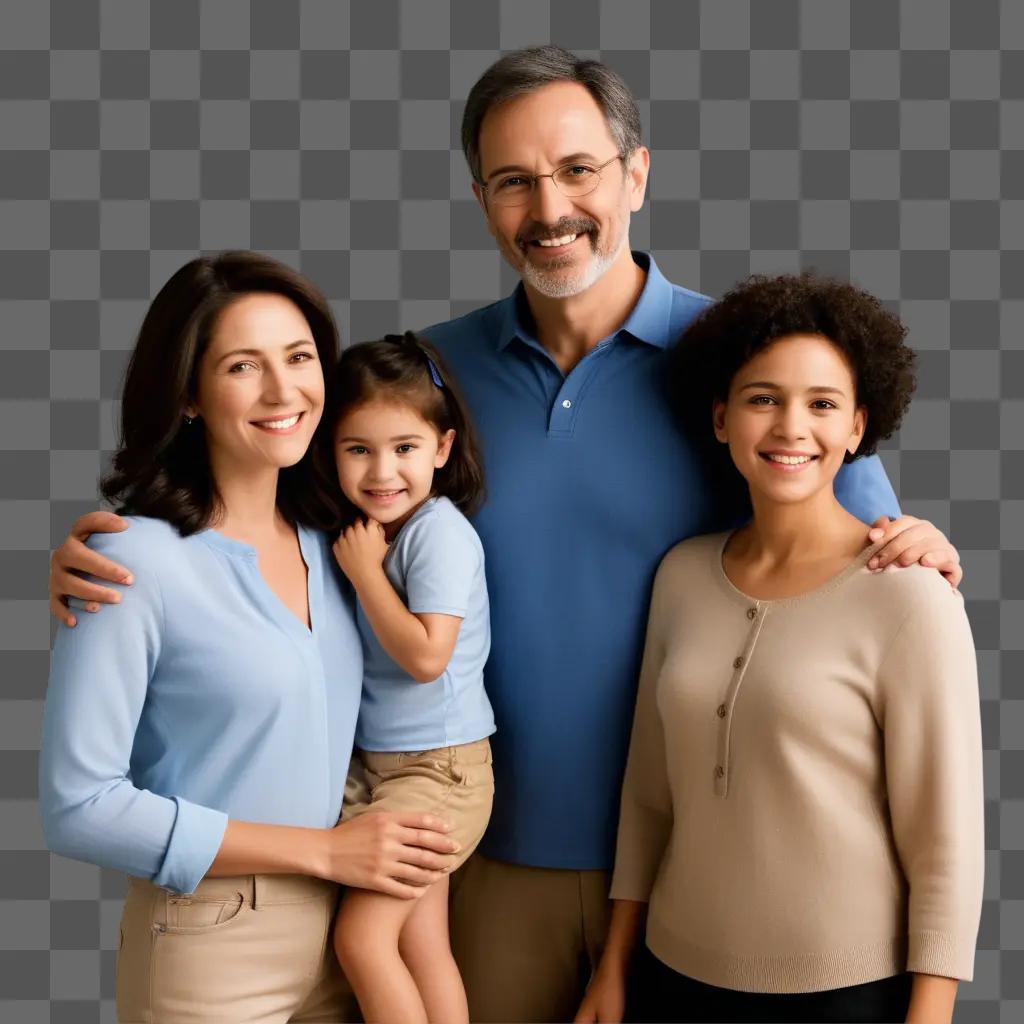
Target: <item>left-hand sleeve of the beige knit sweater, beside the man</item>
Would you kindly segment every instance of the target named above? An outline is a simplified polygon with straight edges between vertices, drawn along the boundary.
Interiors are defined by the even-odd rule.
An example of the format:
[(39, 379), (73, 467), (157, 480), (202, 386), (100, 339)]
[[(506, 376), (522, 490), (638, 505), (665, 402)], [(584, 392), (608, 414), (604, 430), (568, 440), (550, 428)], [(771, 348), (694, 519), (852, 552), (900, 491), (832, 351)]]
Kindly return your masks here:
[(647, 638), (637, 689), (629, 758), (623, 781), (612, 899), (646, 903), (672, 834), (672, 794), (665, 732), (657, 711), (657, 682), (665, 664), (666, 611), (672, 605), (672, 555), (658, 569), (651, 594)]

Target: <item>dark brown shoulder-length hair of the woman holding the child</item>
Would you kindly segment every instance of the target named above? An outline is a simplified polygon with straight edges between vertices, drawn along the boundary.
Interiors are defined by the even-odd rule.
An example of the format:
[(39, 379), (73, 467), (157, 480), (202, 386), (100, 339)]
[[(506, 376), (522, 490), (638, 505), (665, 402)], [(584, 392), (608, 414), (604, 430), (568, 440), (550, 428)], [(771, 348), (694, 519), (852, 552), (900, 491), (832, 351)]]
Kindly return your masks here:
[[(298, 306), (312, 332), (324, 379), (338, 361), (338, 329), (321, 292), (291, 267), (247, 251), (190, 260), (160, 290), (146, 311), (121, 403), (120, 449), (102, 480), (103, 497), (129, 515), (164, 519), (187, 537), (208, 526), (217, 495), (206, 432), (188, 423), (197, 373), (217, 317), (245, 295), (281, 295)], [(313, 458), (322, 420), (309, 451), (281, 471), (278, 508), (289, 522), (328, 529), (339, 517), (336, 477)]]

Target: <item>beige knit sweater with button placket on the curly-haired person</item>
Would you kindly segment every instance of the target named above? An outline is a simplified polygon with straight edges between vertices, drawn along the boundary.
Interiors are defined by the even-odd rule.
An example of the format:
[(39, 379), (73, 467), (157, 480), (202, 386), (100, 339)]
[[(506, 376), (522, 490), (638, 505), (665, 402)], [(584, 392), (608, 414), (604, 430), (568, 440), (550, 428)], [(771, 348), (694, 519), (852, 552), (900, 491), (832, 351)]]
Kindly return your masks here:
[(984, 866), (977, 668), (933, 569), (758, 601), (728, 535), (657, 572), (611, 895), (674, 970), (802, 992), (970, 979)]

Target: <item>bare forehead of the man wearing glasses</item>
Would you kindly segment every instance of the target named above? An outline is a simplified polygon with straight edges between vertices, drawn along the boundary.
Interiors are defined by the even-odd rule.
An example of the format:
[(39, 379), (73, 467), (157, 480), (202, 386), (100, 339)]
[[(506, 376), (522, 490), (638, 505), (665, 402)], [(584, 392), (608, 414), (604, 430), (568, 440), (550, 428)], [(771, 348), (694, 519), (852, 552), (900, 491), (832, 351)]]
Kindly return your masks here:
[(480, 126), (484, 176), (500, 165), (597, 157), (614, 140), (603, 111), (577, 82), (553, 82), (516, 96), (488, 111)]

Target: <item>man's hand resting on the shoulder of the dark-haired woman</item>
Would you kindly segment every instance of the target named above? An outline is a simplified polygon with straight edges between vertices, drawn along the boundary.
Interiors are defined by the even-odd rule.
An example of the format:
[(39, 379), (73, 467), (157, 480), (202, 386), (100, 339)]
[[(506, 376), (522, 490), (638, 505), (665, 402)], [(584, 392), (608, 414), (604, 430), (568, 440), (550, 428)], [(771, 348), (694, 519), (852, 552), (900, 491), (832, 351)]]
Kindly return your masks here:
[(120, 534), (124, 529), (128, 529), (128, 523), (113, 512), (88, 512), (75, 520), (63, 544), (50, 555), (50, 614), (65, 626), (74, 626), (77, 622), (68, 607), (69, 597), (85, 601), (86, 611), (98, 611), (100, 605), (117, 604), (121, 600), (116, 590), (90, 583), (80, 573), (87, 572), (111, 583), (131, 584), (128, 569), (85, 544), (92, 534)]

